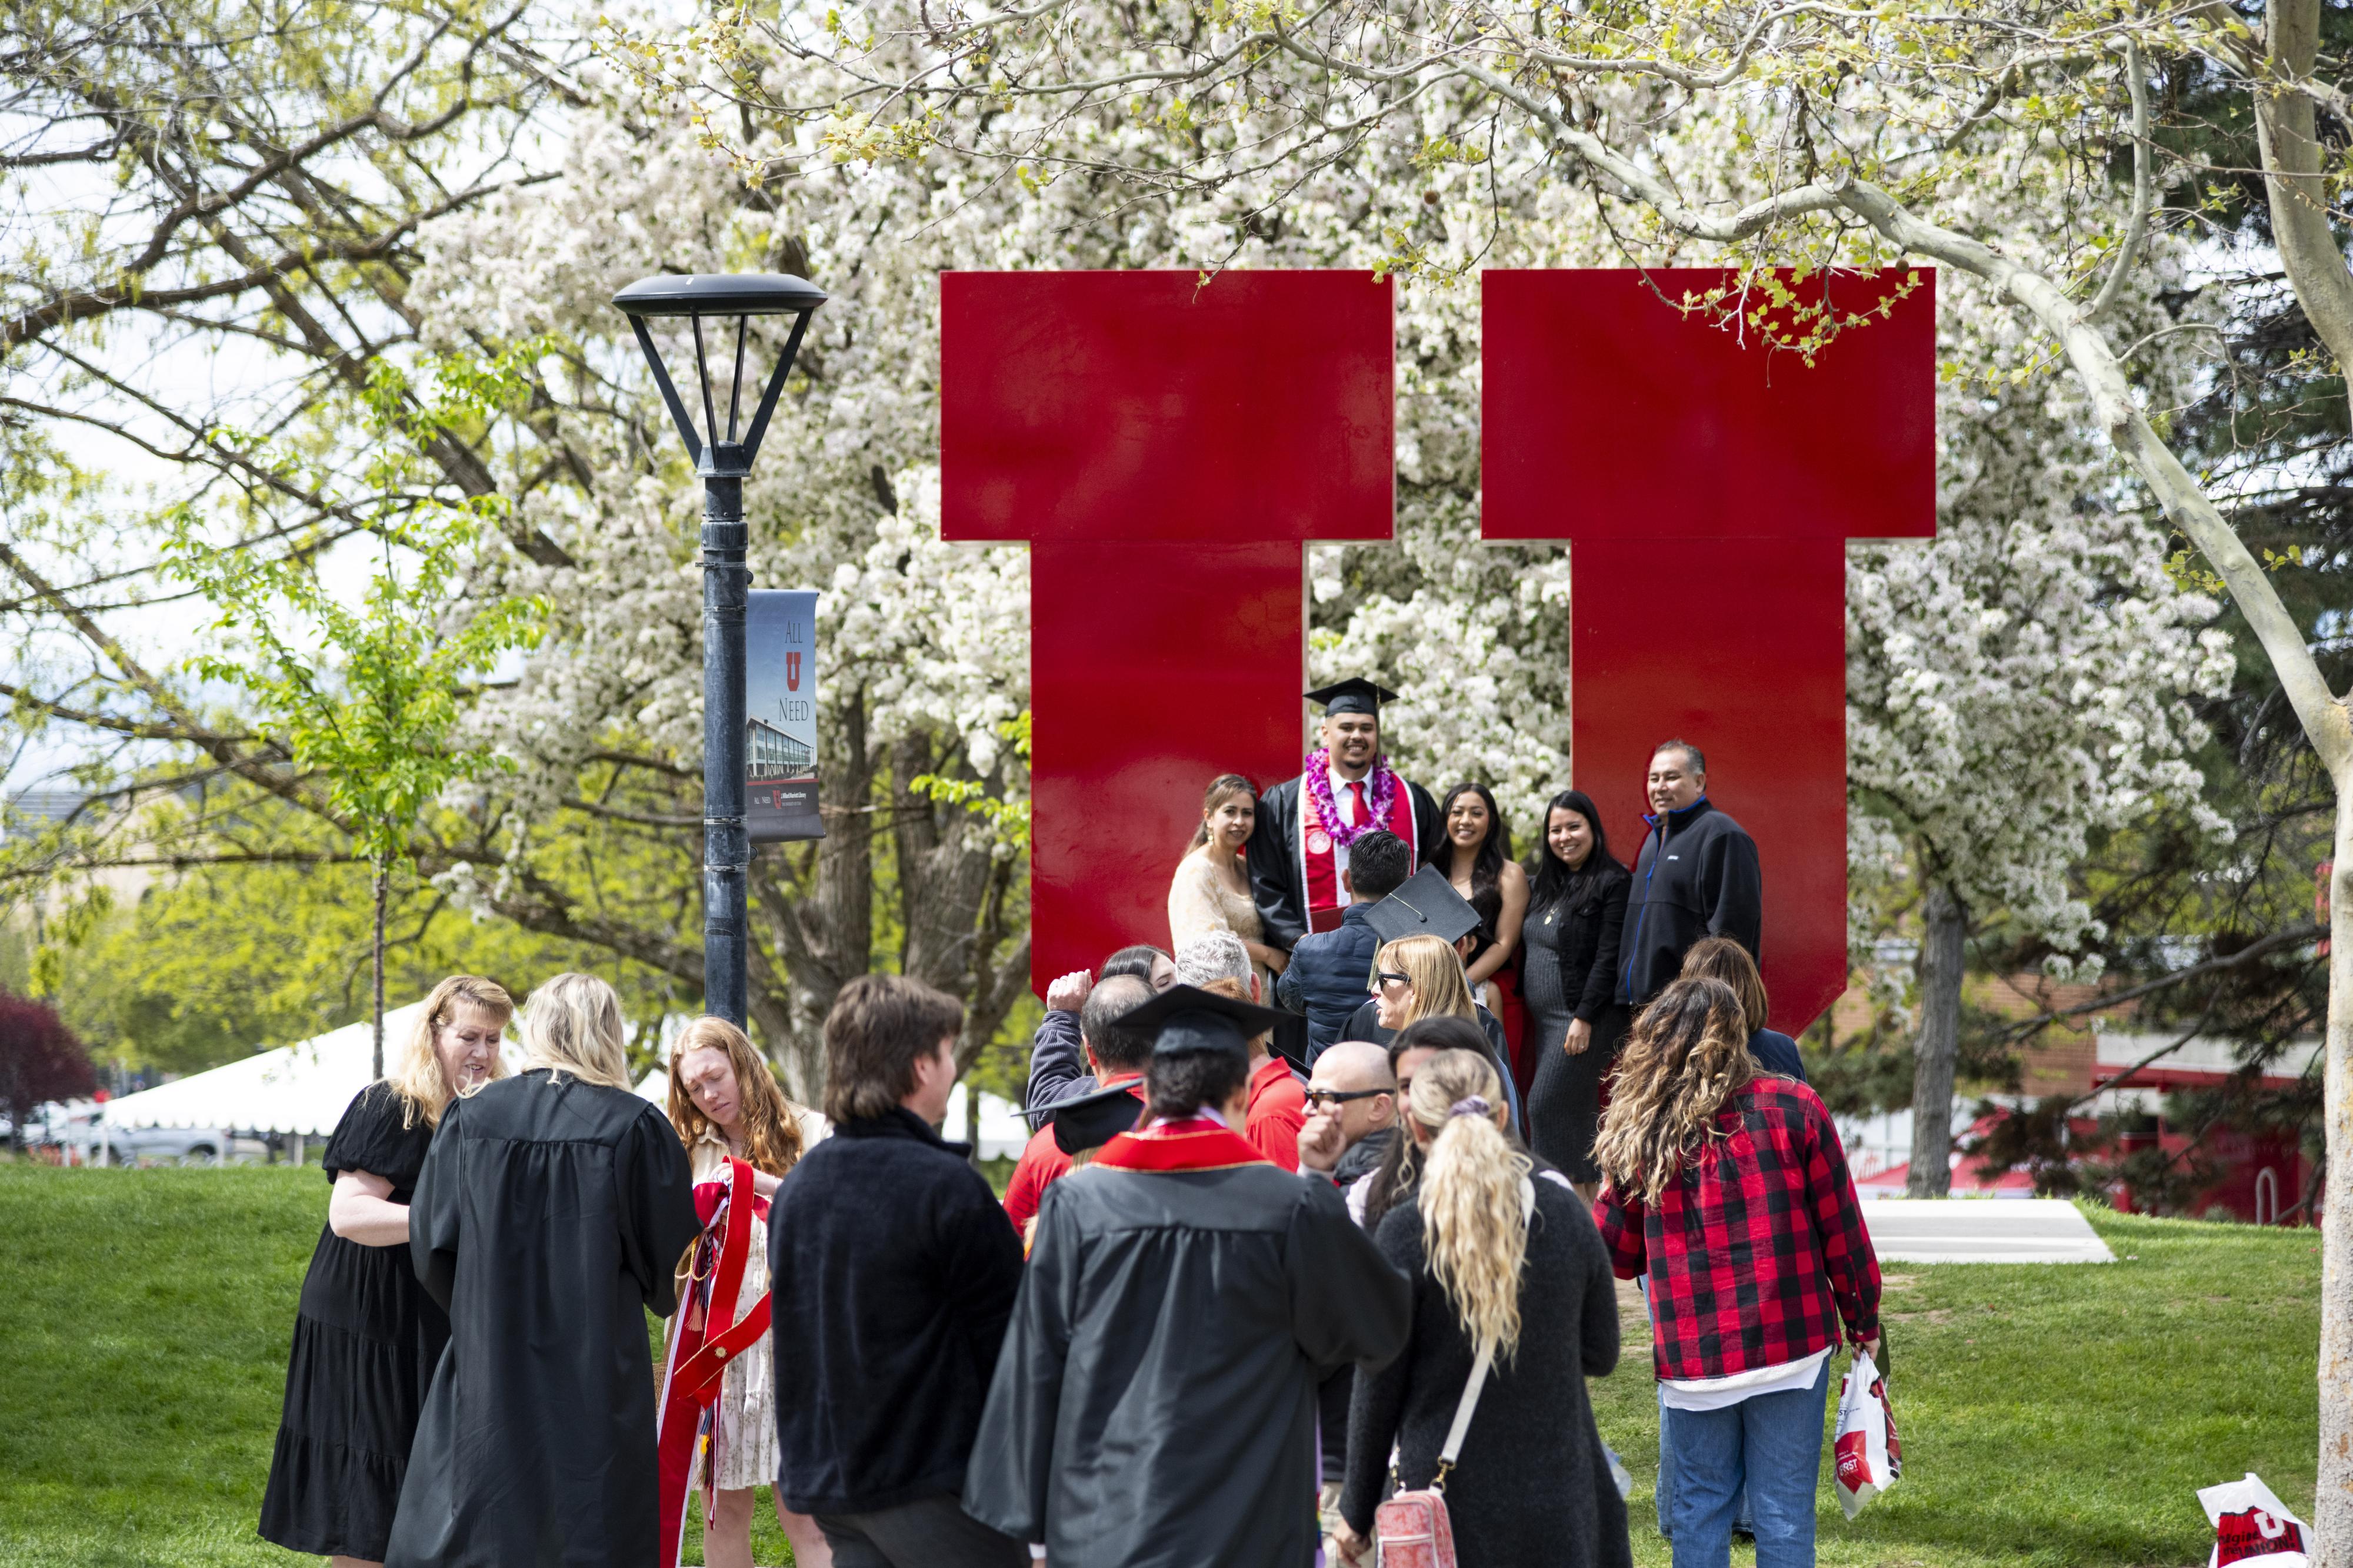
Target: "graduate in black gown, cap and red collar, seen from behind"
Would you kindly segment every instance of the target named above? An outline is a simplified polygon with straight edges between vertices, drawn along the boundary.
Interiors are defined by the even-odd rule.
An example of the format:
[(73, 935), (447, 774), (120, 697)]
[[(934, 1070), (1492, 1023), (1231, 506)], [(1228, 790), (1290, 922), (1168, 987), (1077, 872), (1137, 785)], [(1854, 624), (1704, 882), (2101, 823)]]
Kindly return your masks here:
[(1122, 1016), (1158, 1037), (1148, 1126), (1045, 1192), (965, 1512), (1052, 1563), (1308, 1568), (1315, 1387), (1405, 1345), (1339, 1190), (1233, 1131), (1275, 1020), (1191, 985)]

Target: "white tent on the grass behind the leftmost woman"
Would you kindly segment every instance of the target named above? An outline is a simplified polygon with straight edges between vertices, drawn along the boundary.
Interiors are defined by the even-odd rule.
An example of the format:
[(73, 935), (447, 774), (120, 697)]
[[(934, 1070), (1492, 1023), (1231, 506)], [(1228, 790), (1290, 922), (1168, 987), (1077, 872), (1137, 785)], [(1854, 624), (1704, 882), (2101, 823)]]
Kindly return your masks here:
[[(416, 1009), (384, 1013), (384, 1053), (398, 1056)], [(513, 1039), (506, 1044), (513, 1067)], [(351, 1023), (313, 1039), (259, 1051), (245, 1060), (141, 1088), (106, 1103), (106, 1126), (219, 1126), (233, 1133), (301, 1133), (325, 1138), (344, 1119), (351, 1098), (374, 1081), (374, 1044), (367, 1023)]]

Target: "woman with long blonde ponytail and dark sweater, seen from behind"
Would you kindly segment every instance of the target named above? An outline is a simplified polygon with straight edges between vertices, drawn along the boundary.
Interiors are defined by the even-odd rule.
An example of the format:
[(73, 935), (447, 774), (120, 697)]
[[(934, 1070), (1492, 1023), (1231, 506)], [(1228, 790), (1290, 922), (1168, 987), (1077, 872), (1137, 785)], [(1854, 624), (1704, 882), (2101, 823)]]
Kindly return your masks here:
[[(1569, 1182), (1518, 1152), (1504, 1077), (1471, 1051), (1414, 1072), (1405, 1126), (1421, 1175), (1377, 1241), (1414, 1281), (1414, 1331), (1358, 1371), (1341, 1488), (1346, 1561), (1365, 1561), (1391, 1448), (1405, 1490), (1445, 1483), (1464, 1568), (1624, 1568), (1626, 1505), (1609, 1479), (1586, 1378), (1617, 1366), (1609, 1255)], [(1478, 1387), (1461, 1448), (1449, 1429)]]

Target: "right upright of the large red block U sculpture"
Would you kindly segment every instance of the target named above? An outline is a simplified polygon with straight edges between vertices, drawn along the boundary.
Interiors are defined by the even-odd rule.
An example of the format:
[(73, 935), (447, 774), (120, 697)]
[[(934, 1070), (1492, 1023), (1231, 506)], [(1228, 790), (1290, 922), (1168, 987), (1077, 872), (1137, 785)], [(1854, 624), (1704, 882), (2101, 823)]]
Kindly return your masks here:
[(1847, 987), (1847, 541), (1937, 529), (1937, 303), (1840, 275), (1840, 310), (1901, 299), (1807, 367), (1668, 303), (1722, 280), (1485, 275), (1480, 534), (1569, 541), (1572, 769), (1621, 860), (1652, 748), (1706, 752), (1798, 1032)]

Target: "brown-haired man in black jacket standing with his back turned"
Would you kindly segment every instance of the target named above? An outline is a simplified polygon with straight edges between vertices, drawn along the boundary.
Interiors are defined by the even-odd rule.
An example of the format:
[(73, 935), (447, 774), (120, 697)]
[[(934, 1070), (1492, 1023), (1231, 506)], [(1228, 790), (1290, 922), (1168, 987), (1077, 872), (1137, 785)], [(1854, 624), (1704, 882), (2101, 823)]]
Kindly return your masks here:
[(1026, 1568), (958, 1502), (1021, 1241), (972, 1150), (944, 1143), (953, 997), (859, 976), (826, 1016), (833, 1135), (776, 1187), (776, 1495), (835, 1568)]

